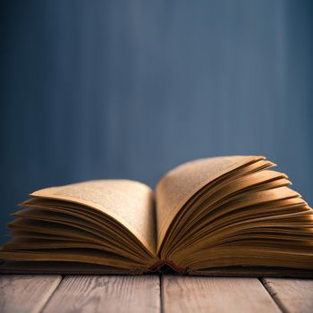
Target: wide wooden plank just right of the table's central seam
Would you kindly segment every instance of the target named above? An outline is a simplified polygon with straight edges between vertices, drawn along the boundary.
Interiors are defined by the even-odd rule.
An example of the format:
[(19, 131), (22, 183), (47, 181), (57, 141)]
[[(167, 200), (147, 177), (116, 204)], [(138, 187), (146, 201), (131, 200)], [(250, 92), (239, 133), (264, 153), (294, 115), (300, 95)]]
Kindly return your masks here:
[(280, 312), (257, 278), (162, 276), (166, 312)]

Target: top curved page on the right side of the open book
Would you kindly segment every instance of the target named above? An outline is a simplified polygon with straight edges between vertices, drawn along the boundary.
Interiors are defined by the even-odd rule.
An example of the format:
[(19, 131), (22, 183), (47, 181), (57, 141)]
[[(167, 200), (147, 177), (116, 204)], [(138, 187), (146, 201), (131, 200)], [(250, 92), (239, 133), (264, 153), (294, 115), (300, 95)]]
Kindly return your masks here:
[(157, 248), (182, 206), (207, 183), (261, 156), (209, 157), (174, 168), (157, 183)]

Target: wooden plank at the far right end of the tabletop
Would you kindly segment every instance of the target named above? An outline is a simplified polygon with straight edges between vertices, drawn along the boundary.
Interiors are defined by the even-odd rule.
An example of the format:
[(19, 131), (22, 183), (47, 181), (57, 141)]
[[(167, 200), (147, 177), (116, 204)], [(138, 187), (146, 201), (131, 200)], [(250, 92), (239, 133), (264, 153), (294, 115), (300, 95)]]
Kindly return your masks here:
[(313, 312), (313, 280), (264, 278), (266, 289), (287, 312)]

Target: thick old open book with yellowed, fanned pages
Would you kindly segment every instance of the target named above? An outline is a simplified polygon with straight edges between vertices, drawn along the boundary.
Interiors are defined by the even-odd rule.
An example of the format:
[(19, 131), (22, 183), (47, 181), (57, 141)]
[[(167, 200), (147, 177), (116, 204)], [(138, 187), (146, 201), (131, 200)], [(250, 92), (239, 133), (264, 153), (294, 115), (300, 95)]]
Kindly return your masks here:
[(313, 272), (313, 210), (262, 156), (210, 157), (155, 191), (97, 180), (30, 193), (2, 273), (295, 276)]

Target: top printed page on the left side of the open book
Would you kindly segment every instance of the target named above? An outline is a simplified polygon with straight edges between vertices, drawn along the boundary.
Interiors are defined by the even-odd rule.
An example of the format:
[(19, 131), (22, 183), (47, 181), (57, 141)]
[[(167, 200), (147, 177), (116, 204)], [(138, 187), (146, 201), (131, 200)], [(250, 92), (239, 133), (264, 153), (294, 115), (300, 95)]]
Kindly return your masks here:
[(111, 216), (156, 255), (155, 200), (141, 182), (99, 180), (37, 190), (30, 197), (59, 199), (93, 207)]

